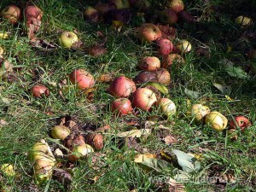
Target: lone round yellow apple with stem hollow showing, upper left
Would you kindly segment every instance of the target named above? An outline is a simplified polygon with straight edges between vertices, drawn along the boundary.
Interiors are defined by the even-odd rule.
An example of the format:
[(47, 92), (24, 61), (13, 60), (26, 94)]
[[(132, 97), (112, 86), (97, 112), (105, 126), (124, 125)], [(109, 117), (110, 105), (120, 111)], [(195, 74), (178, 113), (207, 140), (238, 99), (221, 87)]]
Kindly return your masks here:
[(71, 48), (73, 44), (78, 42), (79, 38), (74, 32), (62, 32), (59, 38), (59, 44), (64, 48)]

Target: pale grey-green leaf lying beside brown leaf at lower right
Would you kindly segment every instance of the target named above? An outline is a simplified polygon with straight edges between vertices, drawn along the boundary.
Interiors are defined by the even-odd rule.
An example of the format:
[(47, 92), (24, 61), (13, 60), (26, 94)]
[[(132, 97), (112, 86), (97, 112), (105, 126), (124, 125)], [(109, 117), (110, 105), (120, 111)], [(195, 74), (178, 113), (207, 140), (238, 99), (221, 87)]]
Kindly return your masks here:
[(201, 168), (200, 162), (192, 155), (177, 149), (172, 149), (172, 153), (177, 156), (177, 163), (184, 172), (195, 172)]

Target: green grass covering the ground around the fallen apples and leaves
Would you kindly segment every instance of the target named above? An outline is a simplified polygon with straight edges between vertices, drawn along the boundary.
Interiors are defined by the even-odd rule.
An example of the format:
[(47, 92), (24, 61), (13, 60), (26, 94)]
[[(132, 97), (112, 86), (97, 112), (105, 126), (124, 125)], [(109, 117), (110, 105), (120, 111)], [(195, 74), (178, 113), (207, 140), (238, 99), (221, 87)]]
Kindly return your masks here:
[[(89, 2), (89, 1), (88, 1)], [(95, 4), (96, 1), (90, 2)], [(3, 0), (0, 8), (15, 3), (20, 7), (25, 1)], [(151, 44), (141, 44), (136, 37), (135, 27), (142, 23), (139, 18), (131, 20), (125, 26), (125, 32), (114, 32), (108, 24), (92, 24), (84, 21), (83, 1), (33, 1), (43, 9), (43, 25), (38, 32), (38, 38), (57, 43), (62, 31), (79, 32), (79, 38), (86, 45), (99, 41), (96, 31), (101, 30), (107, 36), (108, 53), (99, 57), (86, 55), (81, 51), (57, 48), (53, 51), (43, 51), (32, 48), (26, 37), (24, 22), (12, 26), (6, 20), (1, 20), (1, 30), (11, 32), (11, 38), (1, 39), (0, 46), (5, 49), (5, 58), (14, 64), (12, 79), (0, 80), (0, 119), (8, 125), (0, 124), (0, 165), (10, 163), (15, 166), (15, 177), (8, 177), (0, 173), (0, 186), (3, 191), (161, 191), (160, 184), (154, 181), (164, 177), (174, 177), (178, 166), (172, 162), (163, 172), (145, 170), (133, 162), (137, 152), (127, 146), (120, 147), (119, 131), (133, 129), (125, 124), (129, 119), (137, 119), (132, 115), (116, 118), (110, 112), (113, 96), (107, 93), (108, 84), (96, 82), (93, 101), (88, 101), (79, 94), (79, 90), (71, 90), (63, 99), (59, 94), (58, 84), (67, 79), (67, 75), (76, 68), (89, 70), (95, 78), (102, 73), (114, 73), (115, 76), (125, 74), (134, 78), (139, 72), (137, 61), (142, 55), (155, 55)], [(255, 147), (256, 147), (256, 81), (255, 75), (249, 73), (249, 79), (237, 79), (224, 72), (218, 61), (225, 58), (234, 61), (236, 66), (248, 65), (244, 50), (255, 48), (255, 41), (251, 38), (240, 39), (244, 32), (234, 24), (236, 10), (241, 14), (253, 13), (255, 2), (241, 1), (234, 5), (231, 1), (214, 1), (212, 11), (204, 1), (185, 1), (192, 14), (201, 15), (201, 21), (196, 24), (178, 23), (177, 38), (188, 38), (194, 48), (204, 46), (210, 57), (199, 56), (196, 49), (184, 55), (185, 64), (177, 68), (172, 66), (172, 84), (168, 87), (173, 102), (177, 105), (177, 115), (173, 117), (174, 125), (167, 125), (170, 131), (156, 128), (148, 137), (137, 139), (142, 148), (147, 148), (151, 154), (177, 148), (186, 153), (201, 154), (201, 170), (195, 175), (209, 179), (196, 182), (190, 180), (185, 183), (186, 191), (255, 191)], [(244, 3), (244, 4), (243, 4)], [(244, 6), (241, 6), (241, 5)], [(253, 6), (254, 7), (253, 7)], [(255, 19), (255, 15), (252, 15)], [(255, 21), (255, 20), (254, 20)], [(254, 26), (247, 29), (254, 30)], [(255, 31), (255, 30), (254, 30)], [(232, 51), (227, 51), (228, 46)], [(212, 83), (229, 84), (232, 90), (227, 100), (224, 94), (216, 90)], [(34, 98), (30, 89), (34, 84), (45, 84), (49, 87), (50, 96)], [(201, 93), (197, 99), (189, 98), (183, 89), (196, 90)], [(237, 131), (238, 139), (230, 141), (226, 131), (216, 132), (205, 125), (195, 125), (186, 117), (188, 111), (187, 100), (194, 103), (205, 103), (212, 110), (218, 110), (228, 119), (236, 115), (245, 115), (253, 125), (247, 131)], [(48, 112), (53, 113), (48, 115)], [(142, 112), (139, 120), (144, 121), (149, 115), (158, 114)], [(61, 146), (61, 142), (49, 137), (50, 129), (56, 125), (57, 119), (71, 116), (85, 130), (90, 125), (111, 125), (113, 132), (104, 134), (104, 148), (100, 151), (107, 154), (102, 163), (93, 169), (90, 158), (79, 160), (74, 168), (66, 168), (73, 177), (68, 187), (55, 179), (42, 185), (37, 185), (33, 179), (32, 161), (28, 152), (33, 143), (44, 138), (51, 148)], [(83, 132), (83, 133), (84, 133)], [(179, 143), (168, 146), (160, 140), (159, 135), (172, 135)], [(172, 160), (175, 161), (175, 160)], [(62, 165), (67, 165), (65, 158), (58, 159)], [(63, 166), (65, 169), (65, 166)], [(215, 177), (229, 173), (236, 178), (235, 183), (220, 181)], [(100, 176), (96, 183), (93, 178)], [(163, 190), (162, 190), (163, 191)]]

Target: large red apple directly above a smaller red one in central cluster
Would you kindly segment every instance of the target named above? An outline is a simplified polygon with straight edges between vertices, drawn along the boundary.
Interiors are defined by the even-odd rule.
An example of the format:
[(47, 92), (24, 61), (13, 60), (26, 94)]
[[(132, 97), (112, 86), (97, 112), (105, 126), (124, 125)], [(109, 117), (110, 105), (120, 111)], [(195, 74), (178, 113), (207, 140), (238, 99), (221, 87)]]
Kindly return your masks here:
[(125, 76), (120, 76), (116, 79), (113, 79), (113, 82), (110, 84), (108, 91), (112, 96), (128, 97), (136, 89), (136, 85), (131, 79), (128, 79)]

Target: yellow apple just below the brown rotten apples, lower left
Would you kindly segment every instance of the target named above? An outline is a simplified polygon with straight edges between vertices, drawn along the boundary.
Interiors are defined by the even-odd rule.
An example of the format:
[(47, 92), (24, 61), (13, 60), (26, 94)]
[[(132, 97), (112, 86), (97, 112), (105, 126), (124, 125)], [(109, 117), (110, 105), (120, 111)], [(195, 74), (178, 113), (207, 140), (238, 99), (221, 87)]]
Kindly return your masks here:
[(77, 145), (73, 147), (72, 154), (69, 154), (68, 160), (74, 162), (80, 158), (94, 152), (93, 148), (89, 144)]

